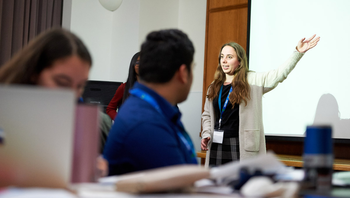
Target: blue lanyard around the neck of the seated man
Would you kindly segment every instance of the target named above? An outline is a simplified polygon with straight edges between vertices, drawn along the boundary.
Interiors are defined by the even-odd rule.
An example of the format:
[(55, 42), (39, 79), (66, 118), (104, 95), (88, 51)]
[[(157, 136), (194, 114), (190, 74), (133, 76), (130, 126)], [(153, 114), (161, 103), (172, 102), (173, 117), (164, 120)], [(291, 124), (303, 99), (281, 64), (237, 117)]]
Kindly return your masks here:
[[(139, 98), (141, 98), (142, 100), (148, 102), (149, 104), (152, 105), (152, 107), (155, 108), (155, 110), (157, 110), (160, 114), (164, 115), (164, 113), (162, 112), (162, 110), (159, 107), (159, 104), (157, 103), (157, 101), (148, 93), (146, 93), (144, 90), (141, 89), (132, 89), (129, 91), (130, 94), (137, 96)], [(177, 126), (180, 127), (180, 130), (176, 130), (177, 136), (179, 136), (179, 138), (181, 139), (181, 141), (183, 142), (183, 144), (186, 146), (188, 152), (191, 154), (192, 157), (192, 161), (194, 163), (197, 163), (196, 160), (196, 152), (194, 149), (194, 146), (192, 144), (192, 141), (190, 140), (189, 135), (186, 133), (182, 123), (180, 122), (180, 120), (177, 121)], [(186, 137), (185, 137), (186, 136)]]

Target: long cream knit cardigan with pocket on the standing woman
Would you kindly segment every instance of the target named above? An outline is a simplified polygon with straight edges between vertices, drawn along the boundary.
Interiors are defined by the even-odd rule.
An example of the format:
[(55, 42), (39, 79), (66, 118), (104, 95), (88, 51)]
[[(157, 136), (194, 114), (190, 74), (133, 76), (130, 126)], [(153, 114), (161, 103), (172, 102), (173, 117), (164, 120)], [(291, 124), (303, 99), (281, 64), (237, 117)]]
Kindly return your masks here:
[[(292, 56), (277, 69), (268, 72), (248, 72), (250, 101), (239, 104), (239, 152), (240, 160), (250, 159), (259, 153), (266, 153), (264, 126), (262, 124), (262, 95), (283, 82), (304, 53), (294, 51)], [(210, 137), (205, 167), (209, 167), (210, 147), (213, 139), (215, 113), (212, 101), (205, 100), (202, 114), (202, 139)]]

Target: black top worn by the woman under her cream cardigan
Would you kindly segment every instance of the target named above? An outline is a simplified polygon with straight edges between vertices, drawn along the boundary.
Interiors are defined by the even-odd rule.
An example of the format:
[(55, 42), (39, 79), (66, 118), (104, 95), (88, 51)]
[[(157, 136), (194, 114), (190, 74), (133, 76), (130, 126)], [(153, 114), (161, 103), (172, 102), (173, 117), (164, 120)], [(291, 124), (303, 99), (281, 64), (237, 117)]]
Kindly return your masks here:
[[(219, 109), (218, 97), (214, 98), (213, 106), (215, 109), (215, 126), (214, 129), (219, 129), (219, 119), (222, 108), (224, 107), (227, 95), (231, 89), (231, 84), (224, 85), (222, 88), (221, 94), (221, 108)], [(219, 96), (219, 93), (218, 93)], [(224, 131), (224, 138), (238, 138), (238, 129), (239, 129), (239, 104), (235, 104), (235, 107), (232, 109), (232, 104), (229, 101), (224, 113), (221, 118), (221, 127), (220, 130)]]

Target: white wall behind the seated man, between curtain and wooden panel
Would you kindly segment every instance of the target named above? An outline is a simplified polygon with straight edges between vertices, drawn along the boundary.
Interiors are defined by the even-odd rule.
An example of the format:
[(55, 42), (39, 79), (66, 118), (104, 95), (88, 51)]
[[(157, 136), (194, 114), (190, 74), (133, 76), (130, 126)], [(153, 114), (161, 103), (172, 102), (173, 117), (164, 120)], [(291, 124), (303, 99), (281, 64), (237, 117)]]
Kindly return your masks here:
[(195, 47), (194, 80), (179, 108), (200, 150), (206, 6), (206, 0), (124, 0), (111, 12), (98, 0), (64, 0), (63, 26), (87, 45), (93, 58), (89, 79), (100, 81), (125, 82), (130, 60), (150, 31), (177, 28), (187, 33)]

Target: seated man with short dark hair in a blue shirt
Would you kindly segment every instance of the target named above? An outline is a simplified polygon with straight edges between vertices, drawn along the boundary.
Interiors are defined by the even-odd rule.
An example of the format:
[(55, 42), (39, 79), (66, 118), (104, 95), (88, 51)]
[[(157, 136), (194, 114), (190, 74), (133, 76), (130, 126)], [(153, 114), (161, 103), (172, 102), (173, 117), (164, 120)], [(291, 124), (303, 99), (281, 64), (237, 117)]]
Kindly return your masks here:
[(147, 35), (141, 46), (139, 83), (124, 102), (104, 149), (109, 175), (197, 163), (177, 103), (191, 84), (194, 47), (180, 30)]

